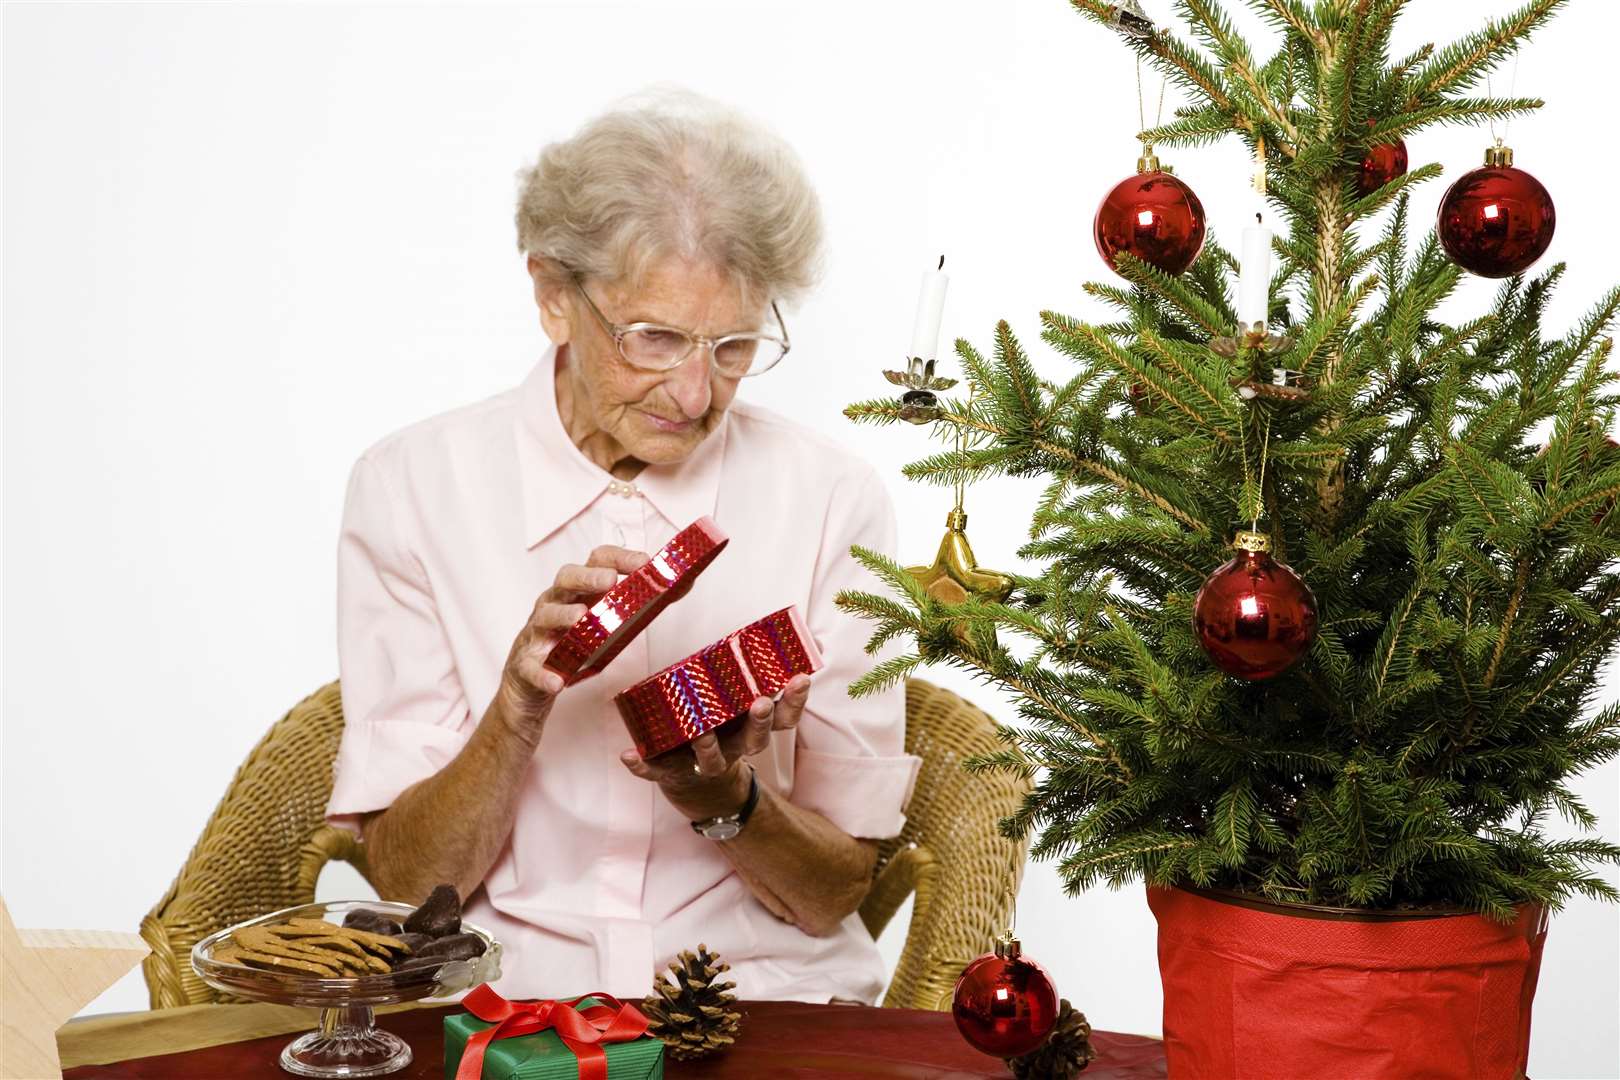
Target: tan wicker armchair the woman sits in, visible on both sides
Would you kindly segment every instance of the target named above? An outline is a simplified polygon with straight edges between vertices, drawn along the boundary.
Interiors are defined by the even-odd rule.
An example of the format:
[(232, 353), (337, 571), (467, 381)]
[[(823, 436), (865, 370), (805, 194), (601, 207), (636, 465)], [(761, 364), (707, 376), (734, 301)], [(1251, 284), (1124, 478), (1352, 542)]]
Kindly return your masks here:
[[(364, 850), (322, 821), (343, 732), (335, 682), (300, 701), (253, 748), (175, 884), (141, 920), (154, 1009), (227, 1001), (191, 970), (191, 946), (246, 918), (314, 899), (334, 858), (366, 873)], [(938, 1009), (962, 965), (1008, 918), (1011, 850), (996, 819), (1025, 790), (1014, 777), (967, 776), (967, 755), (996, 745), (995, 721), (922, 680), (906, 688), (906, 750), (923, 759), (904, 832), (886, 840), (860, 916), (873, 936), (912, 892), (910, 928), (885, 1006)], [(1022, 858), (1017, 860), (1022, 863)]]

